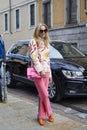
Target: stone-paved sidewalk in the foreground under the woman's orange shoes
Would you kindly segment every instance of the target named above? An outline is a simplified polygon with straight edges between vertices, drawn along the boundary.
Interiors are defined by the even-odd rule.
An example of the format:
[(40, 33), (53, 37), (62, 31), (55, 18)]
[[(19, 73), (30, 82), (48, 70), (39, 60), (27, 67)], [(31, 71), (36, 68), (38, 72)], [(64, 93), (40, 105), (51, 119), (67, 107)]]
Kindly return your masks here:
[(54, 113), (55, 121), (37, 122), (37, 106), (8, 94), (7, 103), (0, 103), (0, 130), (87, 130), (87, 125)]

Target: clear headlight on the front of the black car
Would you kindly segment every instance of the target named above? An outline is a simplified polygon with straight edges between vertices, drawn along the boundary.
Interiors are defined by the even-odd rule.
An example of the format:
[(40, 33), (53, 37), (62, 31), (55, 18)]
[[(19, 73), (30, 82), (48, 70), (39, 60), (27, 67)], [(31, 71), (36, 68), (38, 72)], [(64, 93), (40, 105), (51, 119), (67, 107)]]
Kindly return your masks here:
[(62, 70), (64, 76), (67, 78), (80, 78), (83, 76), (83, 73), (81, 71), (70, 71), (70, 70)]

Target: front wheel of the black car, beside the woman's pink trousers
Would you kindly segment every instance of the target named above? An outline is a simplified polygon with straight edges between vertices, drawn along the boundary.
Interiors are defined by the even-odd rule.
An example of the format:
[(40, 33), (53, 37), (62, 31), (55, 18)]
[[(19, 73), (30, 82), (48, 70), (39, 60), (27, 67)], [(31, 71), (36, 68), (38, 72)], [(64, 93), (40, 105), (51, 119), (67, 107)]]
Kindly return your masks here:
[(60, 101), (62, 99), (58, 87), (58, 84), (56, 85), (55, 82), (49, 83), (48, 85), (49, 98), (52, 102)]

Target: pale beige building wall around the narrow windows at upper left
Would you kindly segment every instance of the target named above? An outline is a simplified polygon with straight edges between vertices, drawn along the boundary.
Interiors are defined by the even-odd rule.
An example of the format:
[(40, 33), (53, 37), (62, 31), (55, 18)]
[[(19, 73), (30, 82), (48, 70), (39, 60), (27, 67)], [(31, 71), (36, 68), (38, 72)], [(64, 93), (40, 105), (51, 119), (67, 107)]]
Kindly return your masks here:
[[(17, 40), (24, 40), (24, 39), (31, 39), (32, 35), (33, 35), (33, 30), (34, 28), (29, 29), (28, 26), (28, 3), (26, 4), (26, 2), (30, 2), (29, 0), (25, 1), (25, 4), (21, 5), (22, 2), (25, 0), (11, 0), (11, 4), (12, 4), (12, 8), (11, 8), (11, 32), (8, 33), (4, 33), (4, 25), (3, 25), (3, 18), (4, 18), (4, 10), (3, 13), (0, 13), (0, 34), (3, 34), (3, 39), (5, 41), (5, 46), (6, 46), (6, 50), (8, 50), (8, 48), (11, 46), (11, 44)], [(2, 3), (5, 2), (4, 0), (2, 1)], [(7, 3), (7, 8), (8, 8), (8, 2)], [(19, 6), (18, 6), (19, 4)], [(3, 3), (4, 5), (4, 3)], [(17, 6), (16, 6), (17, 5)], [(6, 5), (3, 7), (6, 10)], [(15, 31), (15, 9), (19, 8), (20, 12), (21, 12), (21, 29), (19, 31)], [(1, 10), (1, 9), (0, 9)], [(7, 11), (7, 10), (6, 10)], [(9, 11), (9, 10), (8, 10)]]

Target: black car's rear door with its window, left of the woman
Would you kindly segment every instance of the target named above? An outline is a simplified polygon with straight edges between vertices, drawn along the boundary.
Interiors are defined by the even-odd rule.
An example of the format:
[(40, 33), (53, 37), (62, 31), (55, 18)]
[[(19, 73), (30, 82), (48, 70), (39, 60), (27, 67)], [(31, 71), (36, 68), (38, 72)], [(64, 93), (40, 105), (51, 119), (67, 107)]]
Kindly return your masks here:
[(26, 78), (27, 67), (30, 66), (28, 44), (19, 42), (15, 44), (7, 54), (8, 66), (18, 80)]

